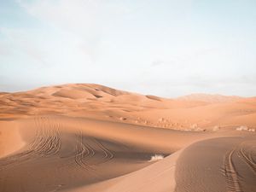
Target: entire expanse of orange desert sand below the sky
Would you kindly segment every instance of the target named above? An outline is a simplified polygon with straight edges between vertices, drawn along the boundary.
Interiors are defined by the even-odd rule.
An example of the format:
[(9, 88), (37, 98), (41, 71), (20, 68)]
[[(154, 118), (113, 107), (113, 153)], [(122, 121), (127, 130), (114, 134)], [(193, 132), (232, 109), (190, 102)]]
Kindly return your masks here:
[(0, 93), (1, 192), (253, 192), (255, 181), (256, 97)]

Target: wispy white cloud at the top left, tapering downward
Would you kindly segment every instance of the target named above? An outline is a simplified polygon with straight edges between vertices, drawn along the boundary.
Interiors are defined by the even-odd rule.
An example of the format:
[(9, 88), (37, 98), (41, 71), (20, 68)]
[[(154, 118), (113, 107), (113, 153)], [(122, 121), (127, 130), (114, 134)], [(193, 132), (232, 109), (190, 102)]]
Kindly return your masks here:
[(58, 0), (21, 1), (20, 6), (46, 25), (57, 27), (79, 38), (79, 49), (95, 61), (102, 36), (119, 16), (130, 13), (134, 6), (124, 6), (119, 1)]

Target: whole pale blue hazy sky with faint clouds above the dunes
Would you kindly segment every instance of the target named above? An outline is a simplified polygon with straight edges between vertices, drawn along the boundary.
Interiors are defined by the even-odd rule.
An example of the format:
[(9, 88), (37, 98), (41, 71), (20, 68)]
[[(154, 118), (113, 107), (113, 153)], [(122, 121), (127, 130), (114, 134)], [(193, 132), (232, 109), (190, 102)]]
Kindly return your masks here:
[(0, 91), (256, 96), (256, 1), (0, 0)]

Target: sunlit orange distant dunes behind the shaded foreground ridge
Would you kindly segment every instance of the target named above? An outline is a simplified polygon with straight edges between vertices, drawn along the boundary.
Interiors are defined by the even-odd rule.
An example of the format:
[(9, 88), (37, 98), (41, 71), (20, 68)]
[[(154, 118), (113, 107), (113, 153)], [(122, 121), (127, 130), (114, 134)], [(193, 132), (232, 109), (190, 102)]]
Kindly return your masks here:
[[(171, 129), (255, 126), (256, 98), (192, 95), (143, 96), (98, 84), (63, 84), (0, 95), (0, 119), (60, 114)], [(232, 123), (234, 118), (236, 122)]]

